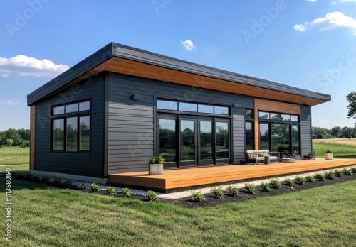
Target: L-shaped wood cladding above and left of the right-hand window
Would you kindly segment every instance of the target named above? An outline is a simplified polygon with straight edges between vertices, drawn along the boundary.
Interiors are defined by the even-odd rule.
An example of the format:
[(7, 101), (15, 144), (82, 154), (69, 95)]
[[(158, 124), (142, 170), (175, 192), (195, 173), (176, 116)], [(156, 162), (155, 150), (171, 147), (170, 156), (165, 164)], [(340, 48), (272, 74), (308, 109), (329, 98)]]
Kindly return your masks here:
[(300, 115), (300, 105), (290, 104), (280, 101), (271, 101), (266, 99), (255, 99), (255, 150), (259, 148), (259, 126), (258, 126), (258, 111), (276, 111), (285, 114)]

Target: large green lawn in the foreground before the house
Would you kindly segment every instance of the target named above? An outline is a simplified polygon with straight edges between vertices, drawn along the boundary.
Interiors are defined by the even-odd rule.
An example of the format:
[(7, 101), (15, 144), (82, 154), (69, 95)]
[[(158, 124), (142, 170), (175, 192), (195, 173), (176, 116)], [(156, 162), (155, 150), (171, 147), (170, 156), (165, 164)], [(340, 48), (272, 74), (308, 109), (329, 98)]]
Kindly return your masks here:
[(356, 246), (356, 181), (199, 209), (12, 186), (7, 246)]

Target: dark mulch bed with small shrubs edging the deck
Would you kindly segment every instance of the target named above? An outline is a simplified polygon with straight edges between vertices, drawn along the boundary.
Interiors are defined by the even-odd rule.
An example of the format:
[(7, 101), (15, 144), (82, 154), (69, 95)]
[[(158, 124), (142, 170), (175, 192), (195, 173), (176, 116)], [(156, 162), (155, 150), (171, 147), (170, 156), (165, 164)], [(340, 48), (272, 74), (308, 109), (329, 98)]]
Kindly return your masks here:
[[(352, 173), (352, 175), (343, 175), (342, 177), (335, 177), (333, 180), (325, 178), (324, 181), (320, 181), (315, 179), (315, 182), (305, 182), (305, 185), (299, 185), (296, 183), (294, 180), (294, 186), (290, 187), (288, 185), (284, 185), (283, 182), (281, 182), (282, 187), (281, 189), (271, 189), (270, 192), (264, 192), (261, 189), (261, 186), (256, 186), (256, 194), (249, 194), (245, 191), (244, 188), (239, 189), (239, 194), (236, 196), (232, 197), (229, 195), (229, 192), (224, 191), (224, 198), (223, 199), (215, 199), (213, 194), (204, 194), (204, 197), (206, 200), (204, 202), (192, 202), (190, 197), (184, 197), (181, 199), (175, 199), (175, 200), (169, 200), (169, 199), (159, 199), (158, 201), (155, 201), (157, 203), (161, 202), (166, 202), (166, 203), (171, 203), (171, 204), (177, 204), (182, 207), (187, 207), (187, 208), (197, 208), (197, 207), (213, 207), (219, 204), (224, 204), (227, 202), (243, 202), (248, 199), (255, 199), (258, 197), (271, 197), (274, 195), (278, 194), (285, 194), (289, 192), (296, 192), (300, 190), (307, 190), (310, 188), (315, 188), (315, 187), (320, 187), (324, 185), (334, 185), (336, 183), (340, 182), (347, 182), (351, 180), (356, 180), (356, 174)], [(82, 190), (83, 192), (90, 192), (89, 188), (85, 188), (85, 190)], [(100, 192), (95, 192), (95, 194), (105, 194), (105, 191), (100, 190)], [(122, 197), (122, 194), (118, 193), (115, 195), (115, 197)], [(138, 199), (144, 202), (148, 202), (147, 197), (140, 196), (140, 195), (132, 195), (130, 199)]]

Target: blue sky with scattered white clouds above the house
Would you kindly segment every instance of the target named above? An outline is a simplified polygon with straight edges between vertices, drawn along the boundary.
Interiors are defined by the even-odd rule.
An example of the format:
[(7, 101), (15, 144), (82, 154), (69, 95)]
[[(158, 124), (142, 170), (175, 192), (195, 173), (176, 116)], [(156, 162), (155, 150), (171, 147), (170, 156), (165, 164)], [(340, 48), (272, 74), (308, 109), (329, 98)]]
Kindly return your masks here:
[(354, 126), (356, 0), (6, 1), (0, 131), (29, 128), (26, 95), (111, 41), (331, 94), (313, 126)]

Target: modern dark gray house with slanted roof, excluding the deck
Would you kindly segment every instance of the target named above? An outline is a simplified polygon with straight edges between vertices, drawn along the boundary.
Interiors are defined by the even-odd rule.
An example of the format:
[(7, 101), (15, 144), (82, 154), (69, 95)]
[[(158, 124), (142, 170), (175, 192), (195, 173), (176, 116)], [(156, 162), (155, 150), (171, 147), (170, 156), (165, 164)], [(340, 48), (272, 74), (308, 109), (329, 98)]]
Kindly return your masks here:
[[(246, 150), (312, 150), (330, 95), (110, 43), (28, 94), (31, 170), (109, 174), (244, 163)], [(197, 168), (199, 172), (199, 168)]]

